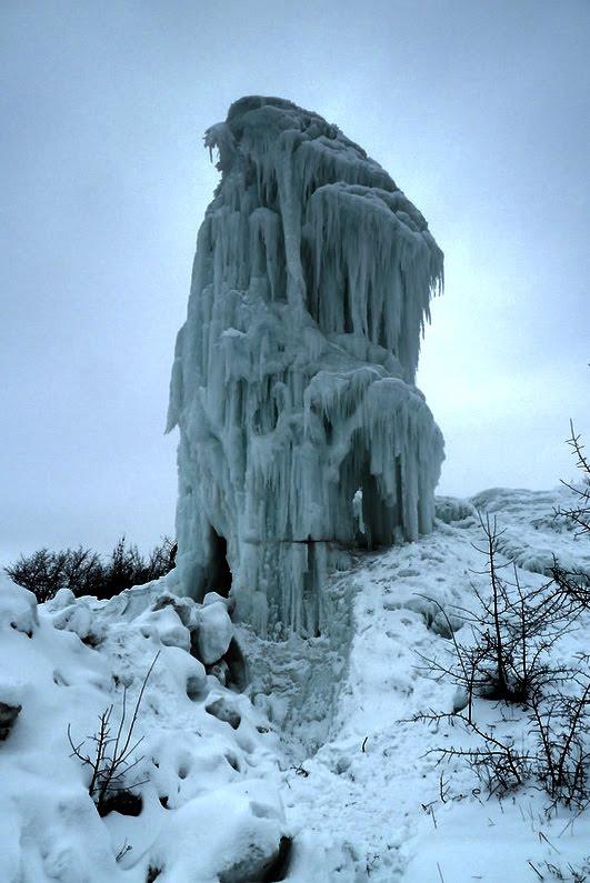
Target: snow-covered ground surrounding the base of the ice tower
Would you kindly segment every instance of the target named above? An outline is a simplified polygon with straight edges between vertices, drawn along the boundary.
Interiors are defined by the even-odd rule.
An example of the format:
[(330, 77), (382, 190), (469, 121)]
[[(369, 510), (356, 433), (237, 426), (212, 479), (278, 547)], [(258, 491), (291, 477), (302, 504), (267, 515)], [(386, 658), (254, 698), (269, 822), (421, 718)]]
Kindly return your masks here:
[[(463, 763), (428, 754), (467, 744), (460, 728), (411, 720), (453, 706), (456, 688), (427, 676), (421, 658), (450, 645), (433, 602), (452, 614), (486, 586), (474, 504), (506, 528), (522, 584), (539, 585), (553, 553), (590, 570), (590, 543), (553, 518), (559, 493), (439, 500), (431, 535), (359, 554), (329, 581), (330, 629), (310, 640), (232, 630), (216, 596), (162, 604), (173, 576), (111, 602), (61, 595), (39, 609), (2, 584), (0, 702), (22, 709), (0, 742), (0, 880), (574, 881), (569, 864), (583, 880), (590, 813), (547, 813), (532, 786), (489, 799)], [(554, 652), (572, 658), (589, 633), (580, 619)], [(233, 643), (224, 686), (228, 671), (211, 665), (232, 634), (246, 668)], [(142, 811), (101, 819), (68, 724), (88, 746), (111, 704), (118, 723), (123, 686), (130, 710), (158, 651), (138, 715), (142, 760), (129, 773)], [(474, 712), (500, 722), (492, 702)], [(500, 723), (518, 739), (522, 714)]]

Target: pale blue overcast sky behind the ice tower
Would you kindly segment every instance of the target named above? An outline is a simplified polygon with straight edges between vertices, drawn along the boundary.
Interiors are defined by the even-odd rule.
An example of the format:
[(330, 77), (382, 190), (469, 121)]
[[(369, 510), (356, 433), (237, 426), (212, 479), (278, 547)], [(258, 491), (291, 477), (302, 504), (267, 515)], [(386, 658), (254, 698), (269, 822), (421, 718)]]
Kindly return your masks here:
[(173, 533), (169, 373), (246, 94), (334, 122), (446, 254), (418, 384), (439, 492), (544, 489), (590, 438), (589, 0), (3, 0), (0, 560)]

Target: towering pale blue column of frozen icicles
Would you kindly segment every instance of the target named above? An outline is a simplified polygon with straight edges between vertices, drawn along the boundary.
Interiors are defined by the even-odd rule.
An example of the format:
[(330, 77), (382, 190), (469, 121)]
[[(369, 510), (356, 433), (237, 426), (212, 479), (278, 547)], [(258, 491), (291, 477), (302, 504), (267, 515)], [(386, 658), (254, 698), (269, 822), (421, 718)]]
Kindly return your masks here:
[[(172, 370), (182, 591), (317, 634), (339, 552), (430, 531), (441, 433), (414, 387), (442, 252), (336, 126), (251, 97), (208, 130), (221, 181)], [(230, 575), (231, 574), (231, 575)]]

